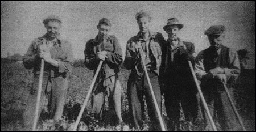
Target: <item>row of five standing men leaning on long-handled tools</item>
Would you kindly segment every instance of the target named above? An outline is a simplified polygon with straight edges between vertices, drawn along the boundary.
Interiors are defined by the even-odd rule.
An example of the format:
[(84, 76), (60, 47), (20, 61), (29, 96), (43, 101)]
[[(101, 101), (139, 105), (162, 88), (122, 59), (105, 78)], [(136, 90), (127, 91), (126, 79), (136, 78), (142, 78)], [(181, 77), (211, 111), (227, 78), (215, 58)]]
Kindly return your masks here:
[[(205, 31), (211, 46), (201, 51), (195, 58), (195, 45), (192, 42), (182, 41), (179, 37), (183, 24), (179, 23), (177, 18), (168, 19), (167, 25), (163, 27), (168, 35), (167, 40), (164, 40), (161, 33), (150, 30), (151, 17), (147, 12), (140, 11), (135, 18), (139, 32), (127, 42), (124, 62), (121, 45), (115, 36), (108, 34), (112, 27), (109, 19), (103, 18), (99, 21), (98, 35), (86, 43), (85, 66), (94, 70), (95, 73), (100, 60), (104, 61), (92, 94), (93, 117), (98, 120), (102, 119), (107, 94), (109, 107), (115, 110), (116, 124), (121, 126), (124, 124), (121, 115), (122, 91), (118, 79), (119, 65), (123, 62), (126, 69), (131, 69), (127, 82), (131, 125), (135, 129), (143, 129), (143, 97), (145, 96), (151, 122), (150, 130), (160, 131), (160, 122), (141, 63), (141, 59), (144, 59), (161, 112), (161, 95), (164, 94), (166, 113), (170, 119), (166, 122), (168, 128), (171, 131), (179, 130), (180, 104), (185, 119), (188, 122), (194, 122), (199, 105), (196, 84), (193, 82), (188, 64), (188, 61), (191, 61), (197, 79), (201, 82), (201, 88), (212, 116), (218, 119), (222, 130), (236, 130), (238, 122), (236, 122), (231, 106), (227, 104), (227, 97), (221, 82), (231, 84), (236, 80), (240, 74), (240, 63), (236, 51), (222, 44), (222, 40), (225, 39), (225, 27), (213, 25)], [(59, 16), (49, 16), (44, 19), (43, 23), (47, 33), (32, 41), (23, 60), (27, 69), (34, 68), (34, 82), (27, 107), (23, 112), (24, 125), (28, 129), (32, 127), (34, 119), (40, 58), (46, 62), (43, 79), (43, 91), (46, 92), (42, 92), (39, 113), (43, 109), (44, 100), (49, 95), (47, 93), (50, 93), (49, 112), (55, 121), (59, 121), (63, 114), (68, 88), (67, 79), (73, 67), (72, 45), (69, 41), (61, 39), (59, 35), (61, 28)], [(139, 49), (143, 51), (142, 56), (139, 55)], [(208, 117), (204, 112), (203, 115), (207, 124)]]

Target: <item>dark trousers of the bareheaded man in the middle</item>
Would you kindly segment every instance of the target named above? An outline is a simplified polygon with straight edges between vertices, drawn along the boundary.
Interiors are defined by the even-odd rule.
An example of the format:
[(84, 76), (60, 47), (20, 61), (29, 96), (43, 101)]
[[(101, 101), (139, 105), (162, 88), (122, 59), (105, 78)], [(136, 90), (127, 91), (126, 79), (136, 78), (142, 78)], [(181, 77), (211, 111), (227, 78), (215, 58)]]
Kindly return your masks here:
[[(160, 112), (162, 112), (162, 99), (158, 83), (158, 75), (151, 71), (148, 71), (148, 75), (150, 77), (158, 107)], [(148, 86), (147, 78), (145, 75), (142, 75), (142, 77), (139, 78), (137, 74), (132, 73), (128, 80), (127, 96), (129, 99), (129, 111), (131, 112), (133, 118), (133, 125), (137, 129), (143, 125), (142, 118), (144, 113), (144, 95), (146, 97), (148, 116), (150, 117), (151, 121), (150, 129), (152, 131), (160, 131), (158, 114), (155, 110), (155, 105), (151, 96), (150, 87)]]

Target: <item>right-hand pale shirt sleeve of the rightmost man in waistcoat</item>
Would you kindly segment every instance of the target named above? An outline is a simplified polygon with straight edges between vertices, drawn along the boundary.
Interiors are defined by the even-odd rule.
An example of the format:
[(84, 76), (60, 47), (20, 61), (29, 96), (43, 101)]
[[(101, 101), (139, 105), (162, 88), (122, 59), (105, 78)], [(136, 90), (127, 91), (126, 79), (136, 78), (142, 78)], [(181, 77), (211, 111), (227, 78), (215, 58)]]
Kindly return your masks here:
[(224, 73), (228, 79), (228, 82), (235, 81), (240, 74), (240, 62), (236, 50), (230, 49), (229, 52), (230, 67), (224, 68)]

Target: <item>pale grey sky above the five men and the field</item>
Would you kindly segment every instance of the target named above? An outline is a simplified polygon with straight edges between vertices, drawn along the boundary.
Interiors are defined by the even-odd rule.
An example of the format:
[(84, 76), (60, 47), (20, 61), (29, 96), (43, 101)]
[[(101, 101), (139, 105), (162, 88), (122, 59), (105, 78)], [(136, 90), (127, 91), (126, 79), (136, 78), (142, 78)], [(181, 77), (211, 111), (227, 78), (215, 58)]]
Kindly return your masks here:
[(225, 25), (224, 45), (249, 50), (255, 67), (255, 1), (1, 1), (1, 57), (24, 55), (32, 40), (46, 33), (42, 22), (49, 15), (63, 19), (61, 36), (72, 42), (76, 59), (84, 59), (86, 41), (97, 35), (101, 18), (110, 19), (110, 34), (125, 53), (126, 42), (139, 31), (135, 14), (140, 10), (151, 15), (151, 31), (165, 39), (167, 19), (179, 19), (180, 38), (193, 42), (196, 53), (209, 46), (206, 29)]

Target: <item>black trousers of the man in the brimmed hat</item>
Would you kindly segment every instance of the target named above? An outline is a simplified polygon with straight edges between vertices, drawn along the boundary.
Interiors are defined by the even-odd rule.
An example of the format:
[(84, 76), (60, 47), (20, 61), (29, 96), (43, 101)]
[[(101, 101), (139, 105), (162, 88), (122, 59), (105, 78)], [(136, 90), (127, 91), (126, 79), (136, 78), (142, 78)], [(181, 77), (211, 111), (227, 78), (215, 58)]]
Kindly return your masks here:
[(193, 121), (197, 118), (197, 92), (191, 79), (186, 80), (185, 78), (177, 77), (167, 80), (164, 104), (166, 105), (167, 116), (171, 121), (168, 125), (171, 129), (175, 129), (175, 125), (179, 126), (180, 124), (180, 103), (187, 121)]

